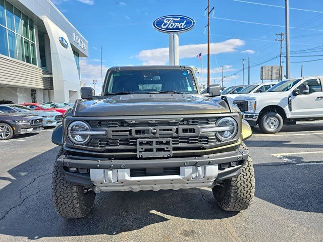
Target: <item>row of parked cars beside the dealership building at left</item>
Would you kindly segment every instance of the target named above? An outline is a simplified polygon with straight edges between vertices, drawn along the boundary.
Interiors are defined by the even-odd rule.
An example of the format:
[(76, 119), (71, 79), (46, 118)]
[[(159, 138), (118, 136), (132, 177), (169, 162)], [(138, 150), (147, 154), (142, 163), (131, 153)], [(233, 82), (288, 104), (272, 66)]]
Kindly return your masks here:
[(9, 140), (14, 135), (56, 127), (62, 123), (63, 114), (72, 103), (22, 103), (0, 104), (0, 140)]

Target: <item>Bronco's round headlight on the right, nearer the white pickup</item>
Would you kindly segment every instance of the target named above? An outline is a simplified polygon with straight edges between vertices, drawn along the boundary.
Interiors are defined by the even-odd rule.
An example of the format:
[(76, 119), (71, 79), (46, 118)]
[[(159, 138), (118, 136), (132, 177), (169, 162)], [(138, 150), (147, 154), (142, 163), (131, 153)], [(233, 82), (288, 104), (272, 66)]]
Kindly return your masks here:
[(217, 137), (222, 141), (232, 139), (238, 132), (238, 124), (232, 117), (220, 118), (216, 123)]

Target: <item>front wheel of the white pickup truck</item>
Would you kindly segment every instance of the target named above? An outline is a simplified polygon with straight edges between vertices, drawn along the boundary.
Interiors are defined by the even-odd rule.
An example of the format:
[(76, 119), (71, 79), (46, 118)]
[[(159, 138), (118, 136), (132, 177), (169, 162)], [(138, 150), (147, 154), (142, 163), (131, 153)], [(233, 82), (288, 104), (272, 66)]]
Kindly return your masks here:
[(265, 134), (276, 134), (283, 128), (284, 120), (277, 112), (264, 113), (259, 120), (259, 128)]

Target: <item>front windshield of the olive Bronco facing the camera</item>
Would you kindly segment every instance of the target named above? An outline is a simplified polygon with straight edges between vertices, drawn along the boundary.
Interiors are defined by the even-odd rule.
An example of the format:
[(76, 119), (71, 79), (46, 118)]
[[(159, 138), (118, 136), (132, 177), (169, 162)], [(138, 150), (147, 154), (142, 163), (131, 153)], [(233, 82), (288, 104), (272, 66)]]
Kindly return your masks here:
[(109, 73), (104, 95), (128, 93), (192, 93), (197, 87), (190, 70), (125, 70)]

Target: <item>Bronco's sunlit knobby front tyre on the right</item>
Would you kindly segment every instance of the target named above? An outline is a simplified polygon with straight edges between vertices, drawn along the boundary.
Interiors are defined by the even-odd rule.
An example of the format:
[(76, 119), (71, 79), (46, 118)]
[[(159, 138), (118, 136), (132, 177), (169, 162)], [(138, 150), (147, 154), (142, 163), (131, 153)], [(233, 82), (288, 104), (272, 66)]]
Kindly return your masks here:
[[(248, 150), (243, 142), (240, 148)], [(212, 188), (212, 192), (223, 210), (241, 211), (251, 204), (254, 197), (254, 186), (254, 171), (249, 156), (238, 176), (223, 180), (221, 184)]]

